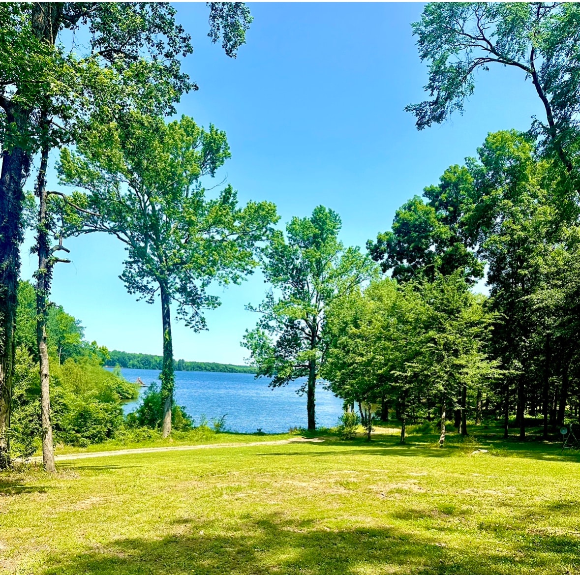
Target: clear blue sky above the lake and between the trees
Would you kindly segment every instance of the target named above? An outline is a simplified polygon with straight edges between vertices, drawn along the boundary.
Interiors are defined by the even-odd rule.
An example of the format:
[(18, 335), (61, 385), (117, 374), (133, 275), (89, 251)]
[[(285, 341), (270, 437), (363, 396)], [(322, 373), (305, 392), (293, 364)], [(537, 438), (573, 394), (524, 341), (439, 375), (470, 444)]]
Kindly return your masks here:
[[(394, 211), (447, 166), (476, 155), (488, 132), (527, 129), (542, 109), (531, 82), (516, 70), (484, 72), (463, 116), (418, 132), (404, 112), (423, 100), (426, 66), (411, 35), (419, 3), (256, 3), (247, 45), (229, 59), (206, 37), (205, 3), (176, 4), (193, 37), (184, 62), (200, 86), (179, 114), (226, 130), (232, 158), (216, 181), (241, 202), (276, 203), (282, 223), (319, 204), (336, 210), (346, 245), (364, 247), (390, 227)], [(52, 182), (50, 185), (55, 185)], [(161, 354), (160, 305), (136, 302), (118, 275), (124, 251), (105, 235), (71, 239), (73, 263), (55, 268), (52, 299), (81, 319), (89, 340), (110, 349)], [(23, 278), (36, 261), (22, 250)], [(255, 315), (263, 279), (255, 274), (223, 291), (206, 314), (208, 332), (173, 323), (176, 358), (241, 363), (244, 330)]]

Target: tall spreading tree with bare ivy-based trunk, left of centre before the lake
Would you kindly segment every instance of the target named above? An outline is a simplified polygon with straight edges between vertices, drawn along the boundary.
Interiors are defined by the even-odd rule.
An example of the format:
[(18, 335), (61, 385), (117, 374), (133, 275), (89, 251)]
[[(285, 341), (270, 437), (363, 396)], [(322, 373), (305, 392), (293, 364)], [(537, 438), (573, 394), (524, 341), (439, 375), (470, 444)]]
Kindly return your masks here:
[(214, 126), (206, 132), (185, 116), (166, 124), (131, 112), (95, 123), (77, 150), (63, 150), (60, 163), (63, 182), (88, 192), (73, 194), (84, 212), (70, 213), (70, 233), (116, 236), (128, 252), (121, 274), (128, 292), (148, 303), (157, 294), (161, 299), (167, 436), (174, 384), (171, 304), (186, 325), (205, 329), (201, 310), (219, 305), (206, 290), (212, 282), (239, 283), (258, 265), (256, 244), (277, 221), (276, 206), (249, 202), (239, 208), (231, 185), (206, 199), (200, 178), (214, 176), (230, 157), (226, 134)]

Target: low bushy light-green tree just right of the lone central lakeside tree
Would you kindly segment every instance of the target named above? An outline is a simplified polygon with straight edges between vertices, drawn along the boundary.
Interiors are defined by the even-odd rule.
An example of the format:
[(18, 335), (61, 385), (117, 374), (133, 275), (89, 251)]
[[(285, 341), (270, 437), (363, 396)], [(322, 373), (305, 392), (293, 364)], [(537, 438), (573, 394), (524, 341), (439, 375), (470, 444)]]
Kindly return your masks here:
[(408, 408), (420, 396), (411, 372), (423, 347), (422, 310), (415, 292), (398, 288), (390, 279), (371, 282), (364, 292), (354, 291), (329, 308), (329, 349), (321, 375), (346, 403), (358, 403), (367, 439), (371, 404), (390, 399), (398, 405), (401, 443), (405, 441)]

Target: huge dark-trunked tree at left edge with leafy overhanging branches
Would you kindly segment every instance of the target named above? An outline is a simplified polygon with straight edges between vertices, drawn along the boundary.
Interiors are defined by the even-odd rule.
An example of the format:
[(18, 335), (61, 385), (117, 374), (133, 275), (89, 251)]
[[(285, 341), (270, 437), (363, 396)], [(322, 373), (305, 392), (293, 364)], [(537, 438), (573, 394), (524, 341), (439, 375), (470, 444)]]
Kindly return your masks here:
[[(107, 108), (163, 114), (187, 90), (180, 70), (193, 51), (162, 3), (52, 2), (0, 6), (0, 467), (9, 464), (6, 430), (14, 360), (16, 286), (23, 239), (23, 187), (41, 148), (75, 140), (90, 115)], [(225, 20), (223, 20), (225, 19)], [(243, 3), (211, 5), (210, 34), (230, 56), (251, 16)], [(63, 30), (90, 33), (90, 49), (57, 42)]]

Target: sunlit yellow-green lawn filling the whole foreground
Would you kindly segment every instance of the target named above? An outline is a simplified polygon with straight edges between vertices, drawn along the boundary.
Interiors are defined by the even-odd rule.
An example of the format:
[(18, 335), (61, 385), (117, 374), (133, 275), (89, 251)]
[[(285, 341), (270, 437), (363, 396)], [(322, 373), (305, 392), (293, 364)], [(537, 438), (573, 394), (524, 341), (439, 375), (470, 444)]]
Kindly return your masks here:
[(580, 573), (580, 457), (449, 439), (326, 437), (0, 474), (0, 573)]

